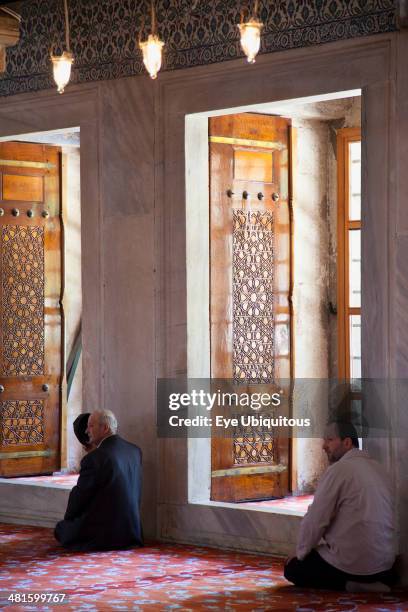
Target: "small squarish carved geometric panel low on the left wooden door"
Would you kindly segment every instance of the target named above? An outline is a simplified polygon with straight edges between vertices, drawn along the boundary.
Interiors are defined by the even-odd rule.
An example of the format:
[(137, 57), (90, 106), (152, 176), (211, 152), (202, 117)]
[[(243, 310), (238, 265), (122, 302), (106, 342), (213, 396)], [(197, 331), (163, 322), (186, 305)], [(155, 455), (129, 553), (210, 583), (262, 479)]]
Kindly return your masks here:
[(0, 411), (0, 445), (44, 442), (42, 400), (6, 400)]

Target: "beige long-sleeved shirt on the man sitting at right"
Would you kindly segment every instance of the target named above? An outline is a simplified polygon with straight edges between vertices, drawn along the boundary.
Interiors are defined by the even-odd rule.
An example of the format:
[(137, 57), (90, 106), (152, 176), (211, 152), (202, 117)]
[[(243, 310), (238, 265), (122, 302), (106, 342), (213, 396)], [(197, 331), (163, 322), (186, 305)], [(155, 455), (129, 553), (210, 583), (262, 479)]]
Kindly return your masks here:
[(367, 452), (354, 448), (331, 465), (305, 515), (296, 556), (315, 548), (350, 574), (388, 570), (395, 558), (394, 509), (389, 479)]

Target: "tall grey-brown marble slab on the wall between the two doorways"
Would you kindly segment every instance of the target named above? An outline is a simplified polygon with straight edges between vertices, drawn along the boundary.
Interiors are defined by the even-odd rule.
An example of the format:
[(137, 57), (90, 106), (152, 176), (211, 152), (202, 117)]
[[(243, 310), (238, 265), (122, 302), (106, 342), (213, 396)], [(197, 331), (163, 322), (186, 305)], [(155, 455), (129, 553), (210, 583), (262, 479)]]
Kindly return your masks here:
[(104, 405), (141, 447), (146, 535), (155, 533), (154, 98), (150, 79), (100, 87)]

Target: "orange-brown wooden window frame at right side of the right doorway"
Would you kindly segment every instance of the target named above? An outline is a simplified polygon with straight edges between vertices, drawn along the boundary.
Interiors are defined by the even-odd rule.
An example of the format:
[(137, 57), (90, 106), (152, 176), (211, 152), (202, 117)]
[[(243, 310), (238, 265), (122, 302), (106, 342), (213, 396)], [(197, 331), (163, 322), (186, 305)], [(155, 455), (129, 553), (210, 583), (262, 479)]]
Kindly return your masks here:
[(360, 128), (337, 132), (337, 354), (338, 378), (350, 379), (350, 317), (361, 316), (361, 307), (349, 305), (349, 232), (361, 230), (358, 221), (349, 219), (350, 164), (349, 144), (361, 141)]

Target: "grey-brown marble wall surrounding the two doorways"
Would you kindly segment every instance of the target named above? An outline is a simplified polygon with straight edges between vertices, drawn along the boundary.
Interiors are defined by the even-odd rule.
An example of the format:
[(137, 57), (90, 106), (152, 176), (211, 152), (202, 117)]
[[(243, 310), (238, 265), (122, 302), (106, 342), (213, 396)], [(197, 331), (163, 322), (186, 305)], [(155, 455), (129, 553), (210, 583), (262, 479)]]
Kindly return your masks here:
[[(143, 449), (148, 536), (251, 550), (257, 534), (269, 551), (295, 537), (261, 513), (190, 504), (187, 441), (157, 441), (156, 378), (187, 371), (186, 114), (363, 89), (363, 372), (406, 378), (407, 54), (401, 31), (265, 54), (255, 66), (167, 72), (156, 84), (136, 77), (0, 101), (2, 136), (81, 128), (84, 404), (114, 408)], [(387, 443), (406, 563), (406, 395), (397, 400), (388, 414), (401, 440)]]

